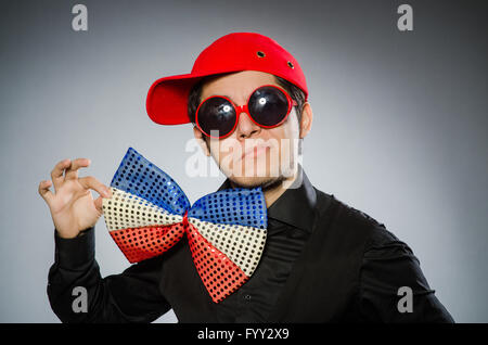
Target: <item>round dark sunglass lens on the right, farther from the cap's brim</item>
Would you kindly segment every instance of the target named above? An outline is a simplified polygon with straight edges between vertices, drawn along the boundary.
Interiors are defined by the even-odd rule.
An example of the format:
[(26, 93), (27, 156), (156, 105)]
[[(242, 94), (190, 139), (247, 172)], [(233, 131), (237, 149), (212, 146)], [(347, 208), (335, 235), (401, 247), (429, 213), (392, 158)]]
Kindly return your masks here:
[(271, 127), (285, 118), (288, 111), (288, 101), (283, 91), (266, 86), (253, 93), (248, 108), (256, 123)]

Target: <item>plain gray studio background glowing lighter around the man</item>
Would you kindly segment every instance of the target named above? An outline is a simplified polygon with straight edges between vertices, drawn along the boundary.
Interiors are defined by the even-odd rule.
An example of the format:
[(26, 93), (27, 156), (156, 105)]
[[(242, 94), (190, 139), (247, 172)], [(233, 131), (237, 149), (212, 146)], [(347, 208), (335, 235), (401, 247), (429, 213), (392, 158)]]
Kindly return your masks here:
[[(70, 27), (76, 1), (1, 2), (0, 321), (59, 322), (46, 293), (53, 225), (37, 188), (62, 158), (91, 158), (80, 175), (108, 184), (133, 146), (192, 202), (223, 181), (187, 177), (191, 127), (152, 123), (144, 102), (156, 78), (189, 73), (231, 31), (272, 37), (303, 66), (312, 183), (407, 242), (457, 321), (488, 321), (484, 1), (408, 1), (410, 33), (396, 27), (403, 1), (78, 2), (87, 33)], [(103, 219), (97, 259), (102, 276), (128, 266)]]

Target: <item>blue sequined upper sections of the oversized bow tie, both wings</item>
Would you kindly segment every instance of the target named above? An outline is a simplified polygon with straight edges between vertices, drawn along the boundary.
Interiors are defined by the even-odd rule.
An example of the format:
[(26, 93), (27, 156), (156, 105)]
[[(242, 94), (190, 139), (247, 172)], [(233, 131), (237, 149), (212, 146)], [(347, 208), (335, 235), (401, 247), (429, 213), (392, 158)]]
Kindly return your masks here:
[(194, 217), (214, 223), (242, 225), (266, 229), (268, 223), (265, 196), (260, 188), (227, 189), (190, 202), (165, 171), (129, 148), (111, 187), (142, 197), (171, 214)]

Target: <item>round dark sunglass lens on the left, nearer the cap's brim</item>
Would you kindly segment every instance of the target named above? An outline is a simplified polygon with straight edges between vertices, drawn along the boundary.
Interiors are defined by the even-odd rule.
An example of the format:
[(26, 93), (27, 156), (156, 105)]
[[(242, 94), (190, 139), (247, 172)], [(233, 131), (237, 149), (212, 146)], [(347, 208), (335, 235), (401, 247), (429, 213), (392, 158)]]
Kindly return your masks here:
[(200, 128), (213, 137), (226, 137), (235, 126), (235, 110), (232, 103), (219, 97), (206, 100), (198, 110)]

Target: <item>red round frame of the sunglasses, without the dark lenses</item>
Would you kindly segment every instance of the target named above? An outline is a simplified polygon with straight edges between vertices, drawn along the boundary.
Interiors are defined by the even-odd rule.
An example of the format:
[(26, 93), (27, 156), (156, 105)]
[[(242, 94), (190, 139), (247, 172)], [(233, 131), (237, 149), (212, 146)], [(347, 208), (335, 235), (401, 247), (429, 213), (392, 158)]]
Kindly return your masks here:
[[(273, 88), (275, 88), (275, 89), (282, 91), (282, 92), (285, 94), (286, 100), (287, 100), (287, 102), (288, 102), (288, 108), (287, 108), (287, 111), (286, 111), (286, 115), (283, 117), (283, 119), (282, 119), (280, 123), (275, 124), (275, 125), (272, 125), (272, 126), (265, 126), (265, 125), (258, 124), (258, 123), (256, 122), (256, 119), (253, 117), (253, 115), (249, 114), (249, 111), (248, 111), (248, 108), (247, 108), (247, 104), (249, 104), (249, 100), (251, 100), (251, 98), (253, 97), (254, 92), (256, 92), (256, 90), (258, 90), (258, 89), (260, 89), (260, 88), (264, 88), (264, 87), (273, 87)], [(229, 131), (229, 133), (227, 133), (227, 135), (224, 135), (224, 136), (220, 136), (220, 137), (214, 137), (214, 136), (210, 136), (210, 135), (207, 133), (205, 130), (203, 130), (202, 127), (200, 127), (200, 124), (198, 124), (198, 111), (200, 111), (200, 107), (202, 106), (202, 104), (204, 104), (207, 100), (209, 100), (209, 99), (211, 99), (211, 98), (220, 98), (220, 99), (224, 99), (224, 100), (229, 101), (229, 102), (232, 104), (232, 106), (234, 107), (234, 111), (235, 111), (235, 114), (236, 114), (236, 115), (235, 115), (235, 124), (234, 124), (234, 127), (232, 127), (232, 129)], [(224, 95), (214, 94), (214, 95), (207, 97), (205, 100), (203, 100), (203, 101), (198, 104), (198, 107), (196, 108), (196, 113), (195, 113), (195, 123), (196, 123), (196, 127), (198, 127), (198, 129), (200, 129), (205, 136), (207, 136), (207, 137), (209, 137), (209, 138), (214, 138), (214, 139), (223, 139), (223, 138), (227, 138), (227, 137), (229, 137), (230, 135), (232, 135), (232, 133), (234, 132), (235, 128), (237, 127), (239, 116), (240, 116), (241, 113), (243, 113), (243, 112), (246, 113), (246, 114), (249, 116), (251, 120), (252, 120), (253, 123), (255, 123), (257, 126), (259, 126), (259, 127), (261, 127), (261, 128), (274, 128), (274, 127), (281, 126), (281, 125), (286, 120), (286, 118), (288, 117), (290, 113), (292, 112), (293, 106), (295, 106), (295, 105), (297, 105), (297, 104), (298, 104), (298, 103), (297, 103), (295, 100), (293, 100), (292, 97), (288, 94), (288, 92), (286, 92), (282, 87), (279, 87), (279, 86), (277, 86), (277, 85), (272, 85), (272, 84), (266, 84), (266, 85), (261, 85), (261, 86), (257, 87), (256, 89), (254, 89), (253, 92), (251, 92), (251, 94), (247, 97), (247, 101), (246, 101), (246, 103), (245, 103), (244, 105), (239, 105), (239, 106), (237, 106), (237, 105), (235, 105), (234, 102), (232, 102), (231, 99), (229, 99), (228, 97), (224, 97)]]

